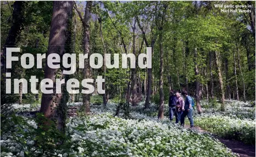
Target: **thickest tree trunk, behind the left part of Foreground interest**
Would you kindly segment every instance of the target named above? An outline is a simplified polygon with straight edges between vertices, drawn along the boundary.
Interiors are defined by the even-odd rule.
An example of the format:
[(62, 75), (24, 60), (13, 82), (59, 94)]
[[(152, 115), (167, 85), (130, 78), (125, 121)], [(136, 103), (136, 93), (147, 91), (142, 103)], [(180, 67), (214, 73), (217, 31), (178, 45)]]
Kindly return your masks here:
[[(71, 44), (71, 19), (73, 12), (73, 1), (54, 1), (53, 14), (51, 22), (51, 30), (49, 36), (49, 46), (47, 56), (49, 54), (58, 53), (62, 56), (69, 51)], [(66, 45), (66, 46), (65, 46)], [(71, 53), (71, 51), (70, 51)], [(46, 57), (47, 57), (46, 56)], [(44, 70), (44, 78), (53, 80), (53, 94), (43, 94), (40, 112), (44, 117), (51, 118), (57, 123), (58, 130), (64, 132), (65, 115), (67, 97), (65, 94), (65, 83), (62, 84), (62, 94), (54, 94), (56, 92), (55, 77), (57, 77), (58, 69), (52, 69), (46, 64)], [(65, 78), (63, 67), (61, 66), (61, 78)]]

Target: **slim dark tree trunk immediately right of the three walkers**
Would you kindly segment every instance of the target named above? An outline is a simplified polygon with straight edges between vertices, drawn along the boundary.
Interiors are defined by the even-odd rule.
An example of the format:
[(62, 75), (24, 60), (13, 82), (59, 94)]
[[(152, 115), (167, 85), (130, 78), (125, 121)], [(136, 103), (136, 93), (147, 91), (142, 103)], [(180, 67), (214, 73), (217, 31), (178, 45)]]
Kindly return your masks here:
[(200, 105), (200, 83), (198, 80), (198, 66), (197, 66), (197, 48), (194, 48), (194, 75), (196, 77), (196, 105), (197, 105), (197, 112), (199, 114), (203, 113), (201, 105)]

